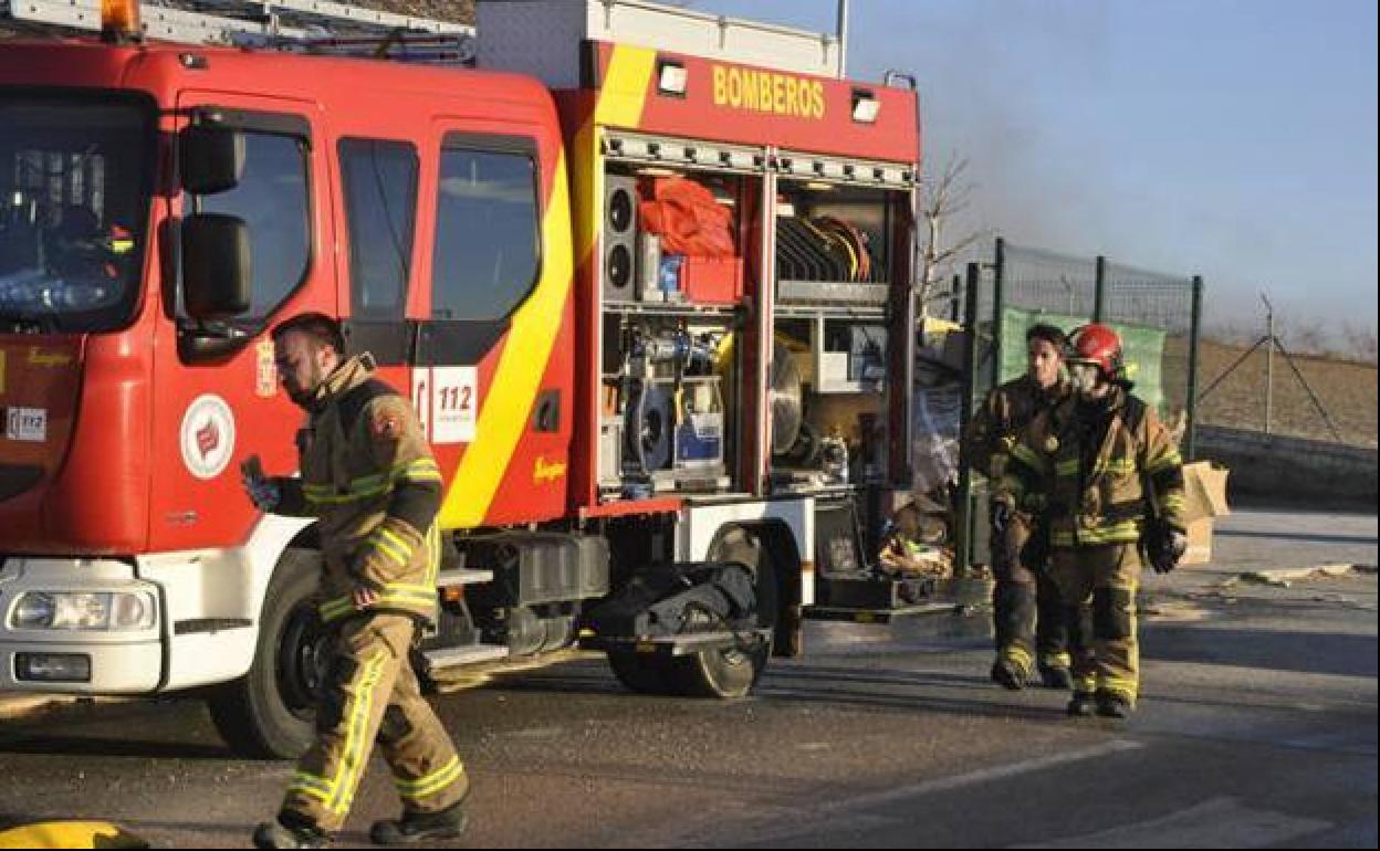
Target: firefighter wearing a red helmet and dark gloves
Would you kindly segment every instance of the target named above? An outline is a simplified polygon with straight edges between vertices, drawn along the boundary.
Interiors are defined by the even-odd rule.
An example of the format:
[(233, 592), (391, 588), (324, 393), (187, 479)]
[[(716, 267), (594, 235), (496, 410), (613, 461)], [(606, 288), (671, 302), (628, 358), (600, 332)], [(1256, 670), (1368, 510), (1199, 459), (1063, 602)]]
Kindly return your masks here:
[(1126, 717), (1140, 691), (1141, 550), (1169, 572), (1188, 548), (1183, 459), (1155, 410), (1130, 394), (1114, 330), (1075, 331), (1068, 364), (1074, 394), (1013, 447), (998, 501), (1005, 513), (1045, 512), (1065, 619), (1092, 601), (1092, 634), (1072, 632), (1068, 713)]

